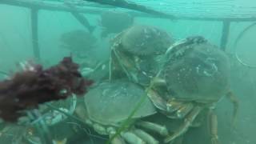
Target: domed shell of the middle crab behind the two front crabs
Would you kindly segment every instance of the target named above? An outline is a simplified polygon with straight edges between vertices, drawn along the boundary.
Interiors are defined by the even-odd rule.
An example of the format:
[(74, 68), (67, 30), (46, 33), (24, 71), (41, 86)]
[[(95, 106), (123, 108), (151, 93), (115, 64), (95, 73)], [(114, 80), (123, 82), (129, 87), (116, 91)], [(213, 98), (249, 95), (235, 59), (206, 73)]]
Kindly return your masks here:
[(121, 34), (122, 50), (134, 55), (163, 54), (172, 38), (154, 26), (132, 26)]

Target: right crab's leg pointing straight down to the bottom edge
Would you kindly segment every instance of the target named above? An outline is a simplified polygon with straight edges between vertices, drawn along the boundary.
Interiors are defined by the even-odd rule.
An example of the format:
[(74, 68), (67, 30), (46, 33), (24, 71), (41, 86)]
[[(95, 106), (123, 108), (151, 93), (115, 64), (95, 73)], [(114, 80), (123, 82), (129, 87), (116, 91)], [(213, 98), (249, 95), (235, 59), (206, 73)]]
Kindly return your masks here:
[(219, 144), (219, 142), (218, 142), (218, 119), (217, 119), (217, 115), (214, 114), (211, 110), (209, 112), (209, 121), (210, 121), (211, 144)]

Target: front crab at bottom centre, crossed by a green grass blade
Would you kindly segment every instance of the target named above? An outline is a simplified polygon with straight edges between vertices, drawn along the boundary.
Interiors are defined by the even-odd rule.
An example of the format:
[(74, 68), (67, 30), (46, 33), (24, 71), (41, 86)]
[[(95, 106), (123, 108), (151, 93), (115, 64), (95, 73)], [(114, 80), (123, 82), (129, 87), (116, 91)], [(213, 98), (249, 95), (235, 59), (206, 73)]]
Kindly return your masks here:
[(122, 122), (129, 118), (134, 106), (142, 98), (146, 98), (132, 115), (132, 124), (126, 126), (126, 130), (123, 130), (117, 137), (114, 136), (112, 143), (157, 144), (158, 140), (146, 130), (154, 131), (162, 136), (166, 136), (168, 130), (166, 126), (142, 121), (142, 118), (157, 113), (155, 106), (145, 95), (145, 90), (132, 82), (122, 80), (103, 82), (85, 95), (85, 106), (78, 106), (75, 111), (78, 117), (85, 119), (86, 124), (93, 127), (98, 134), (112, 138), (122, 126)]

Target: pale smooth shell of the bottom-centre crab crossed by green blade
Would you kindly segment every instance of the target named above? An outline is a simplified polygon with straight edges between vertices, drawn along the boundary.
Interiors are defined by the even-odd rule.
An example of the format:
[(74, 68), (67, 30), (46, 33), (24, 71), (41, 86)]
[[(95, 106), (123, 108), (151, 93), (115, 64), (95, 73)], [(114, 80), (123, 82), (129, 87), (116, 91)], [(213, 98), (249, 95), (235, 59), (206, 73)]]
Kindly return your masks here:
[[(103, 82), (86, 94), (86, 113), (94, 122), (105, 126), (119, 126), (144, 96), (146, 92), (134, 83)], [(142, 118), (155, 113), (153, 103), (146, 97), (132, 118)]]

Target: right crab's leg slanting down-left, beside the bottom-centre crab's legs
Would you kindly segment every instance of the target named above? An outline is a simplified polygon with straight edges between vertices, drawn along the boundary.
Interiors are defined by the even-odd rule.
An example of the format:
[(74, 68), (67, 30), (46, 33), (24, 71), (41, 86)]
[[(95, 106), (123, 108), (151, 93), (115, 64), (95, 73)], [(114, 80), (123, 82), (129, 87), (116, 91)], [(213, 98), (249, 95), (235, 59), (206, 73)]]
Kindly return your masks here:
[(180, 126), (178, 130), (174, 132), (174, 134), (166, 137), (165, 143), (171, 142), (175, 138), (178, 138), (182, 134), (186, 133), (186, 130), (188, 130), (192, 122), (194, 122), (194, 118), (198, 116), (201, 110), (202, 110), (201, 106), (195, 106), (194, 109), (190, 112), (190, 114), (186, 116), (185, 122), (182, 124), (182, 126)]

